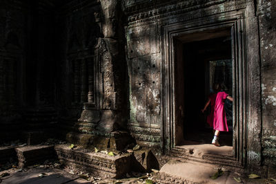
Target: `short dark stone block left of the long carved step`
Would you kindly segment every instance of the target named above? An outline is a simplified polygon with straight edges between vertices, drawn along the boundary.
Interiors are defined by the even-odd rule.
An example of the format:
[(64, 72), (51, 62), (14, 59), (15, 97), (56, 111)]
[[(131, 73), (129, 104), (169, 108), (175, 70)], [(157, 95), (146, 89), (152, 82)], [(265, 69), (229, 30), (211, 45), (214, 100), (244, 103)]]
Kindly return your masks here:
[(28, 145), (16, 147), (19, 167), (43, 163), (45, 160), (57, 157), (53, 145)]

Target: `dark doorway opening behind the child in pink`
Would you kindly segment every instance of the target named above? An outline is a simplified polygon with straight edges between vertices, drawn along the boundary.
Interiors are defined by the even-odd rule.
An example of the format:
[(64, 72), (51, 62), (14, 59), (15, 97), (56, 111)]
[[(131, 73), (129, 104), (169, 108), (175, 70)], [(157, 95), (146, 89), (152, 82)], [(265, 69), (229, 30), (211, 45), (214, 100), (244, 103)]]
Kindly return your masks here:
[[(210, 144), (213, 139), (213, 128), (206, 122), (210, 107), (201, 113), (212, 92), (213, 82), (221, 83), (223, 90), (232, 95), (230, 30), (217, 30), (208, 35), (194, 33), (175, 39), (175, 117), (177, 125), (183, 125), (181, 132), (177, 130), (177, 145), (184, 144), (186, 140)], [(225, 107), (229, 131), (221, 132), (219, 143), (232, 146), (232, 103), (226, 100)]]

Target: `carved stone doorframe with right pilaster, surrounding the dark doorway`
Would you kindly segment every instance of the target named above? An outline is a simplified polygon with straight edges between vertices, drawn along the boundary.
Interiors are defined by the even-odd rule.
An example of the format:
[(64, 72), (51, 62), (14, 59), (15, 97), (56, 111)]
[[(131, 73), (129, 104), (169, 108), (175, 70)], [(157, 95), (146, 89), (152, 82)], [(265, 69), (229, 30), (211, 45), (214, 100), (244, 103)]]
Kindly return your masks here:
[[(175, 147), (175, 48), (173, 39), (179, 35), (204, 30), (229, 28), (233, 55), (233, 156), (244, 167), (247, 163), (260, 165), (261, 158), (256, 156), (256, 153), (261, 153), (261, 141), (254, 138), (255, 134), (261, 131), (258, 129), (257, 122), (261, 119), (259, 111), (259, 107), (261, 107), (259, 104), (261, 102), (259, 95), (259, 41), (258, 39), (251, 40), (258, 36), (257, 21), (254, 16), (247, 19), (246, 15), (248, 14), (245, 8), (161, 27), (161, 114), (163, 123), (161, 146), (165, 152)], [(248, 20), (250, 20), (249, 23)], [(248, 37), (246, 35), (248, 29), (254, 29), (255, 33), (250, 30), (251, 36)], [(248, 49), (250, 44), (256, 44), (256, 46)], [(257, 57), (253, 58), (248, 53)], [(256, 63), (253, 64), (253, 62)], [(252, 112), (254, 110), (256, 113)], [(249, 129), (248, 125), (250, 125)], [(255, 147), (248, 142), (250, 144), (255, 142)], [(253, 156), (250, 155), (252, 150), (255, 153)]]

